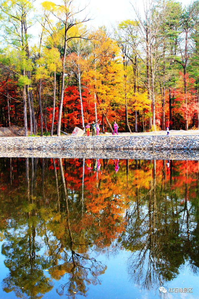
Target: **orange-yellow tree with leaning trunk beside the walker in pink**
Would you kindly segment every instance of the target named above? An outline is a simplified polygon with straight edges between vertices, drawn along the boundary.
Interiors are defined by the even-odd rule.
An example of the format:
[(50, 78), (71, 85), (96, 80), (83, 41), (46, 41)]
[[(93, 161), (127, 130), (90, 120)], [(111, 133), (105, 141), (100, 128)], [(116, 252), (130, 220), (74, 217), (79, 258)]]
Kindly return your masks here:
[(93, 46), (88, 63), (88, 71), (84, 75), (91, 94), (97, 99), (98, 107), (105, 118), (111, 132), (113, 129), (108, 121), (108, 109), (121, 101), (123, 67), (120, 63), (117, 44), (99, 30), (95, 33), (96, 42)]

